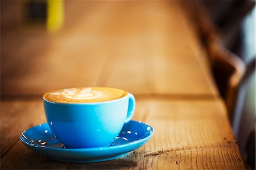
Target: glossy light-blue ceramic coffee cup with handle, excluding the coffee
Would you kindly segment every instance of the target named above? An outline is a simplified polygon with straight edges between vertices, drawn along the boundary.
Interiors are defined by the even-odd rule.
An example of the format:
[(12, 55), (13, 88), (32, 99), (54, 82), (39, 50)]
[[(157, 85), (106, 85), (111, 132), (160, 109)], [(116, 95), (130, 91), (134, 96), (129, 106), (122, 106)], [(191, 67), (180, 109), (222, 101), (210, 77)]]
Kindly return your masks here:
[(92, 103), (58, 103), (43, 98), (51, 131), (66, 148), (107, 147), (135, 111), (133, 94)]

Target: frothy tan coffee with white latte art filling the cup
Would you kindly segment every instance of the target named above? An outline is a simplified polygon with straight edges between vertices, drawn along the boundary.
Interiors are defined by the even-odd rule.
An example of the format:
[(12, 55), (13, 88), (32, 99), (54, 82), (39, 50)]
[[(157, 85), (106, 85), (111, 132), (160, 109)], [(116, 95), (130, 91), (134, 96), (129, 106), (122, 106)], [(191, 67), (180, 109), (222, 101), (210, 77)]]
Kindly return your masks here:
[(58, 103), (91, 103), (103, 102), (127, 96), (121, 89), (92, 87), (55, 90), (44, 94), (47, 101)]

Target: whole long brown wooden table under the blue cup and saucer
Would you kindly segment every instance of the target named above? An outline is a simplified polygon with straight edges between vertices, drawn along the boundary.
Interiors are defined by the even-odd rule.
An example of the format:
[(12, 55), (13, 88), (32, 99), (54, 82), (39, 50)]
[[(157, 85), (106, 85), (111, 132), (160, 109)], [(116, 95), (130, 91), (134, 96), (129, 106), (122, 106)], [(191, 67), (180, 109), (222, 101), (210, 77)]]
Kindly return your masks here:
[[(1, 169), (244, 169), (207, 55), (179, 1), (67, 1), (54, 34), (13, 27), (16, 2), (1, 2)], [(46, 122), (42, 94), (75, 86), (135, 94), (133, 119), (154, 127), (154, 136), (102, 163), (63, 163), (28, 150), (19, 135)]]

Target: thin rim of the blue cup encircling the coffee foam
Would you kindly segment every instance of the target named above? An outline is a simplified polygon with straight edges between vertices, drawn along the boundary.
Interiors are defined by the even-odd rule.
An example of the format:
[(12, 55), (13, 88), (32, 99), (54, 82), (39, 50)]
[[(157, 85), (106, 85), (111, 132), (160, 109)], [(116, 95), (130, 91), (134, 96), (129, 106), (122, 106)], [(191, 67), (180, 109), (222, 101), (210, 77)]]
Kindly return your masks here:
[[(109, 87), (107, 87), (107, 88), (109, 88)], [(114, 89), (117, 89), (117, 88), (114, 88)], [(120, 89), (120, 90), (122, 90), (122, 89)], [(53, 103), (53, 104), (59, 104), (59, 105), (98, 105), (98, 104), (100, 104), (100, 103), (115, 102), (115, 101), (118, 101), (119, 99), (123, 99), (123, 98), (128, 97), (128, 96), (129, 96), (129, 92), (127, 92), (126, 90), (123, 90), (123, 91), (126, 92), (126, 96), (123, 96), (123, 97), (120, 97), (120, 98), (115, 98), (115, 99), (110, 99), (110, 100), (108, 100), (108, 101), (100, 101), (100, 102), (88, 102), (88, 103), (86, 103), (86, 102), (84, 102), (84, 103), (53, 102), (53, 101), (49, 101), (49, 100), (47, 100), (46, 98), (44, 98), (44, 96), (45, 96), (47, 93), (51, 92), (51, 91), (49, 91), (49, 92), (47, 92), (47, 93), (44, 93), (42, 98), (43, 98), (43, 101), (46, 101), (46, 102), (48, 102), (48, 103)]]

